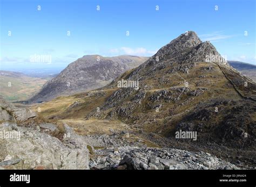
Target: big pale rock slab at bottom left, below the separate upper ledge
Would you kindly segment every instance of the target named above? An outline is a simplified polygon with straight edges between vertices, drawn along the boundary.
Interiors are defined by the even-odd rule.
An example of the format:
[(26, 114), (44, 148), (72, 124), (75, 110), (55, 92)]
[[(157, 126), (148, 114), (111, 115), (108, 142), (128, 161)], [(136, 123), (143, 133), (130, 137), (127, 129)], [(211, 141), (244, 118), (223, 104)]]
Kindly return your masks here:
[[(48, 124), (53, 130), (53, 124)], [(43, 125), (44, 130), (48, 126)], [(63, 140), (41, 127), (0, 124), (0, 169), (89, 169), (89, 152), (83, 139), (65, 125)], [(7, 137), (6, 134), (13, 134)]]

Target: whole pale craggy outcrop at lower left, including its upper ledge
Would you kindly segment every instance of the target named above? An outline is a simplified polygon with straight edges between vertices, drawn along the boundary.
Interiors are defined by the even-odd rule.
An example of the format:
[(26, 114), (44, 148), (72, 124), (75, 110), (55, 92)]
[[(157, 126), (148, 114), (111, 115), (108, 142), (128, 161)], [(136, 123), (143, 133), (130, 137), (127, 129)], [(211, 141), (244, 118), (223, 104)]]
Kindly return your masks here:
[(89, 169), (87, 145), (68, 125), (28, 125), (34, 112), (3, 98), (0, 106), (0, 169)]

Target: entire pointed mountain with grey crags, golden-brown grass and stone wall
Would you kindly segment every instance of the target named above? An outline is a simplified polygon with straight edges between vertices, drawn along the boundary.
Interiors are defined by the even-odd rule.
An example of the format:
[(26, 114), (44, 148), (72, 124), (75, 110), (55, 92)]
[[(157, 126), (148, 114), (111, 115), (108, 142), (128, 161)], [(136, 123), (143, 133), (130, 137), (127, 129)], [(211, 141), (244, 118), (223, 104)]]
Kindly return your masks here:
[[(139, 87), (119, 88), (122, 81), (138, 81)], [(79, 119), (80, 133), (89, 120), (120, 121), (126, 132), (154, 146), (202, 150), (232, 162), (239, 157), (245, 167), (255, 166), (255, 101), (256, 84), (190, 31), (109, 85), (34, 110), (40, 107), (48, 118)], [(179, 131), (197, 132), (197, 141), (177, 139)]]

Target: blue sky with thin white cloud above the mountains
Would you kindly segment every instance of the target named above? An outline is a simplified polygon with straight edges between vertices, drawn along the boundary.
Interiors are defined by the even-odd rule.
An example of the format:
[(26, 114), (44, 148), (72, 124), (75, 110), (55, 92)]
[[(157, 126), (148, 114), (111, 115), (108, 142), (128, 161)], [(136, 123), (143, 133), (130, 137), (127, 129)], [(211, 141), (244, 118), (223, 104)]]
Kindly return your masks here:
[[(210, 40), (227, 60), (256, 64), (254, 0), (0, 2), (5, 70), (63, 69), (86, 54), (151, 56), (190, 30)], [(31, 62), (35, 54), (50, 55), (51, 62)]]

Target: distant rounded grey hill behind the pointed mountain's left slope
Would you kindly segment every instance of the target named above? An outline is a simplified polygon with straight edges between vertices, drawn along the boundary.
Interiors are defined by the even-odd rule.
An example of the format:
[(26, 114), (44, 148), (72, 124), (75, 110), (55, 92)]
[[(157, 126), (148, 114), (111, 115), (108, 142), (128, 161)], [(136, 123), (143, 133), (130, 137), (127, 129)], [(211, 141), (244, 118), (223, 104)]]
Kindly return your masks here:
[(138, 66), (147, 57), (85, 55), (69, 64), (60, 74), (48, 81), (30, 102), (43, 102), (58, 96), (97, 89), (110, 83), (125, 70)]

